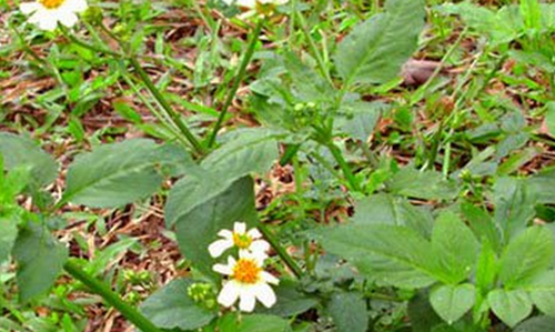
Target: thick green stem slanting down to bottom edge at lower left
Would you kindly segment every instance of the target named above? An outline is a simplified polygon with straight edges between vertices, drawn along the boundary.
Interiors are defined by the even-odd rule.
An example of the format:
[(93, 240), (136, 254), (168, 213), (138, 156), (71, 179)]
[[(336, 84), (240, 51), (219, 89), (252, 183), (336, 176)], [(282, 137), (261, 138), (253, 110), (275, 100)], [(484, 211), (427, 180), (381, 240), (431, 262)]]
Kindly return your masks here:
[(71, 276), (87, 285), (91, 291), (101, 295), (102, 299), (104, 299), (104, 301), (110, 305), (118, 309), (125, 319), (128, 319), (142, 332), (162, 332), (162, 330), (157, 328), (137, 309), (123, 301), (110, 289), (110, 286), (84, 272), (73, 259), (68, 260), (68, 262), (63, 265), (63, 269)]

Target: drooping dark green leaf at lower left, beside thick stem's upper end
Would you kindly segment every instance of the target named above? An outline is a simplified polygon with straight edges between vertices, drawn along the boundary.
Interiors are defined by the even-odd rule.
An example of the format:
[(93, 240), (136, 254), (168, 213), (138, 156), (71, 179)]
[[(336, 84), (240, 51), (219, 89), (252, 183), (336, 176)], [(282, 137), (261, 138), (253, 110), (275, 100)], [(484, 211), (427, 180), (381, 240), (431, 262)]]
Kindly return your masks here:
[(19, 231), (12, 254), (18, 263), (20, 299), (26, 302), (52, 286), (68, 259), (68, 249), (46, 228), (29, 222)]

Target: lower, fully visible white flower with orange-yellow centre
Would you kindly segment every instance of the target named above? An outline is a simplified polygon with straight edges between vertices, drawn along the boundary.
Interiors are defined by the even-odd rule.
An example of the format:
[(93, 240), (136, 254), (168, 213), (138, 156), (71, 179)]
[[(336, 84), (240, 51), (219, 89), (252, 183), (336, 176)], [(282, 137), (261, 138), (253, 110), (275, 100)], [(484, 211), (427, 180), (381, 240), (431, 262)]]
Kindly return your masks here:
[(276, 299), (269, 283), (278, 284), (280, 281), (262, 270), (263, 262), (263, 255), (242, 251), (239, 261), (230, 256), (226, 265), (215, 264), (215, 272), (230, 276), (218, 295), (218, 303), (229, 308), (239, 299), (239, 310), (245, 312), (254, 310), (256, 300), (266, 308), (272, 306)]

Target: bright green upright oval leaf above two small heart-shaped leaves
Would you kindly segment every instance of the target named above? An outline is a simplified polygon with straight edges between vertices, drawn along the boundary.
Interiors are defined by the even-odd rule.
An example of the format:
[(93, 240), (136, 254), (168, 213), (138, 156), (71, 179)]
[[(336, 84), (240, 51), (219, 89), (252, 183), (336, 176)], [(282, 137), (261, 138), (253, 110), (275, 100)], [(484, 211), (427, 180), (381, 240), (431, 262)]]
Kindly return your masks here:
[(440, 261), (440, 269), (452, 284), (468, 276), (478, 256), (476, 238), (452, 212), (441, 214), (435, 221), (432, 247)]

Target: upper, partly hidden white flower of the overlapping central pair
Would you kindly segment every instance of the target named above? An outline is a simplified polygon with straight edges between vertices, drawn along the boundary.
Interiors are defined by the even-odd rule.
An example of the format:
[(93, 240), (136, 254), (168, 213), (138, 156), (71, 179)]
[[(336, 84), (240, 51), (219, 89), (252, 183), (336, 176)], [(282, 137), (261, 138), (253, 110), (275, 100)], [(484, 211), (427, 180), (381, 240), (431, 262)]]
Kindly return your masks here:
[(209, 245), (210, 255), (213, 258), (220, 256), (225, 250), (236, 247), (240, 251), (251, 251), (264, 253), (270, 250), (270, 244), (261, 240), (262, 234), (256, 229), (246, 231), (244, 222), (235, 222), (233, 232), (230, 230), (221, 230), (218, 235), (223, 239), (214, 241)]

